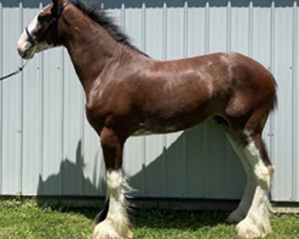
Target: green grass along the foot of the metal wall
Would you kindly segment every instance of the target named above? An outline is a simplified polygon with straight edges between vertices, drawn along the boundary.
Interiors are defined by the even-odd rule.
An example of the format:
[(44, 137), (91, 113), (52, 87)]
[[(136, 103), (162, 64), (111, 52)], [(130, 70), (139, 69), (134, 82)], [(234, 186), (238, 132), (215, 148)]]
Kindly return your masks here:
[[(34, 199), (0, 200), (0, 239), (90, 239), (97, 210), (40, 206)], [(134, 239), (237, 239), (227, 213), (133, 211)], [(272, 215), (266, 239), (299, 239), (299, 215)]]

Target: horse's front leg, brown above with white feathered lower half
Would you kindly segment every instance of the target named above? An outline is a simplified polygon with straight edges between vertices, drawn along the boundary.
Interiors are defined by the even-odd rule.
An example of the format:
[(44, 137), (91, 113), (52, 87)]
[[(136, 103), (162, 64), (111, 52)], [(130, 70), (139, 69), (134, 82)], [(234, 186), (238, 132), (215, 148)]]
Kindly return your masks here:
[[(107, 203), (96, 218), (93, 239), (131, 239), (125, 198), (126, 182), (121, 170), (125, 138), (113, 129), (101, 131), (101, 145), (106, 164)], [(106, 217), (105, 217), (106, 216)], [(103, 220), (102, 222), (99, 222)]]

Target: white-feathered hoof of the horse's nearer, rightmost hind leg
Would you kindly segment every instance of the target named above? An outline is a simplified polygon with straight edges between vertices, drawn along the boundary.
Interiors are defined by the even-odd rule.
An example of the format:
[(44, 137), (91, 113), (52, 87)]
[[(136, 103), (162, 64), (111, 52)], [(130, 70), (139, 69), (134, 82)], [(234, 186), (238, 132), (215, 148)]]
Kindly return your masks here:
[(271, 233), (272, 231), (269, 219), (268, 222), (258, 223), (250, 218), (245, 218), (237, 225), (236, 229), (237, 229), (238, 236), (241, 238), (265, 237), (267, 234)]

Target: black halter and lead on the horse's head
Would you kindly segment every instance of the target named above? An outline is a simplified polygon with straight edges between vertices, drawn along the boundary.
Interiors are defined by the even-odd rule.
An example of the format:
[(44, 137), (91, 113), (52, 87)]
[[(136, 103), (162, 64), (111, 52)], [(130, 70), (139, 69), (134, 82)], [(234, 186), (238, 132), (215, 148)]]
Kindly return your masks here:
[[(56, 15), (56, 16), (52, 16), (51, 20), (49, 21), (49, 25), (48, 25), (47, 29), (42, 33), (41, 37), (40, 37), (38, 40), (35, 40), (35, 39), (32, 37), (32, 35), (30, 34), (30, 32), (28, 31), (28, 28), (25, 27), (25, 32), (27, 33), (28, 41), (31, 43), (31, 47), (36, 46), (39, 42), (42, 41), (42, 39), (43, 39), (44, 36), (47, 34), (47, 32), (49, 31), (49, 29), (50, 29), (50, 28), (51, 28), (51, 27), (58, 21), (58, 19), (59, 19), (59, 17), (61, 16), (61, 14), (62, 14), (64, 8), (66, 7), (66, 5), (67, 5), (68, 3), (69, 3), (68, 1), (64, 2), (63, 5), (62, 5), (62, 6), (60, 7), (60, 9), (58, 10), (57, 15)], [(11, 77), (11, 76), (14, 76), (14, 75), (16, 75), (16, 74), (18, 74), (18, 73), (20, 73), (20, 72), (24, 69), (24, 67), (27, 65), (28, 61), (29, 61), (29, 60), (27, 60), (22, 66), (17, 67), (17, 69), (16, 69), (14, 72), (12, 72), (12, 73), (10, 73), (10, 74), (8, 74), (8, 75), (6, 75), (6, 76), (0, 77), (0, 81), (4, 80), (4, 79), (6, 79), (6, 78), (9, 78), (9, 77)]]

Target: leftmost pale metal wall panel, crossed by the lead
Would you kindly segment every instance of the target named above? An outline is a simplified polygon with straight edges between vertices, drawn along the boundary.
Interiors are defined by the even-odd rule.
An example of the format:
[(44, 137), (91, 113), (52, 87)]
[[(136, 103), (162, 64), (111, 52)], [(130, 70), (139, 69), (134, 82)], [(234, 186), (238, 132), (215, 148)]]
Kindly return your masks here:
[[(17, 39), (21, 29), (21, 11), (18, 1), (2, 3), (2, 32), (5, 32), (2, 35), (2, 65), (6, 73), (21, 61), (16, 52), (11, 54), (10, 51), (15, 48), (11, 39)], [(5, 7), (5, 3), (11, 7)], [(11, 194), (21, 190), (21, 85), (21, 75), (15, 77), (15, 81), (2, 83), (2, 190)]]

